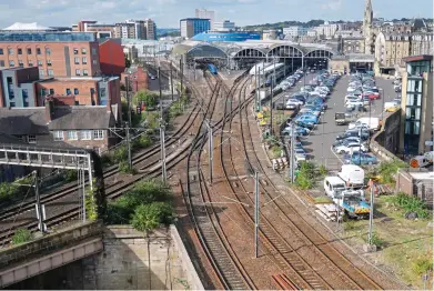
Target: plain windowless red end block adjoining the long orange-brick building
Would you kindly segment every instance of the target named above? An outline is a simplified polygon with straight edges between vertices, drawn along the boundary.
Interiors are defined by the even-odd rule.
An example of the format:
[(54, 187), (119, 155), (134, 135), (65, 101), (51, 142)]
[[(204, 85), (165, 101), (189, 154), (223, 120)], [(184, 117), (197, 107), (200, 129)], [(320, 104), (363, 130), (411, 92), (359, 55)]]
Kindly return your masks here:
[(125, 70), (125, 57), (120, 40), (108, 39), (100, 43), (100, 67), (104, 76), (121, 76)]

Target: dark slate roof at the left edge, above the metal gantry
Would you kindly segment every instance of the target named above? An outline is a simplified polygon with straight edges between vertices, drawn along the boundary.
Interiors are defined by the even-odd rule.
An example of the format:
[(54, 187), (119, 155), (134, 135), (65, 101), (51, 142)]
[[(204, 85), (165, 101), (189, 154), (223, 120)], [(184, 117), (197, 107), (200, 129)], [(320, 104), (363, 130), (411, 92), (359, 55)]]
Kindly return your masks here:
[(46, 108), (0, 108), (0, 132), (10, 136), (48, 134)]

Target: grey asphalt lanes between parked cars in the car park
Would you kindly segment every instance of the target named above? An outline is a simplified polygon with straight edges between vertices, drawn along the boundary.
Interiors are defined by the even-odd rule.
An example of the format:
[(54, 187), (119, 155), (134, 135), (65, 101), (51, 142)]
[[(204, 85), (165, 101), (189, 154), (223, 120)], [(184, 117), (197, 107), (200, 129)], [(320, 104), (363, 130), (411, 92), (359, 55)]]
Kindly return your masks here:
[[(314, 160), (319, 164), (324, 164), (329, 170), (337, 170), (342, 164), (340, 158), (332, 150), (332, 144), (339, 133), (344, 132), (346, 126), (336, 126), (334, 122), (335, 112), (345, 112), (343, 99), (345, 97), (346, 88), (350, 77), (343, 76), (337, 82), (327, 101), (329, 109), (322, 116), (321, 123), (311, 132), (309, 137), (302, 138), (305, 146), (304, 150), (307, 153), (309, 160)], [(392, 101), (396, 93), (393, 90), (392, 80), (384, 78), (375, 78), (377, 88), (382, 88), (385, 98), (384, 102)], [(372, 104), (371, 117), (380, 117), (382, 114), (383, 100), (375, 100)], [(369, 117), (369, 112), (363, 116)], [(360, 114), (362, 117), (362, 114)]]

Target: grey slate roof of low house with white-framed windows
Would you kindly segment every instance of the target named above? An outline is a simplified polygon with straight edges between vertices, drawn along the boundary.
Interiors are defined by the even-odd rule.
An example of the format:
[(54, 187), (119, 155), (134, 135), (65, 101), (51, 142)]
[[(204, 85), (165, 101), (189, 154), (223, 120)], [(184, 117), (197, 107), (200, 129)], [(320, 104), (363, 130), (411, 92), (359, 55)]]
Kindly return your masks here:
[(114, 126), (111, 111), (102, 107), (55, 107), (54, 117), (49, 123), (50, 130), (107, 129)]

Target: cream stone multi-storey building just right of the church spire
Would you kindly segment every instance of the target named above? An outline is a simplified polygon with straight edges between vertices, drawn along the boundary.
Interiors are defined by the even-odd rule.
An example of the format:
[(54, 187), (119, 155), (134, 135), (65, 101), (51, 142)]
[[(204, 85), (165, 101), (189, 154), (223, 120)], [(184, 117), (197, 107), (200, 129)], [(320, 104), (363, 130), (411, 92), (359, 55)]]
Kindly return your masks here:
[(408, 33), (380, 32), (375, 39), (375, 61), (379, 67), (404, 66), (403, 58), (410, 56), (410, 37)]

